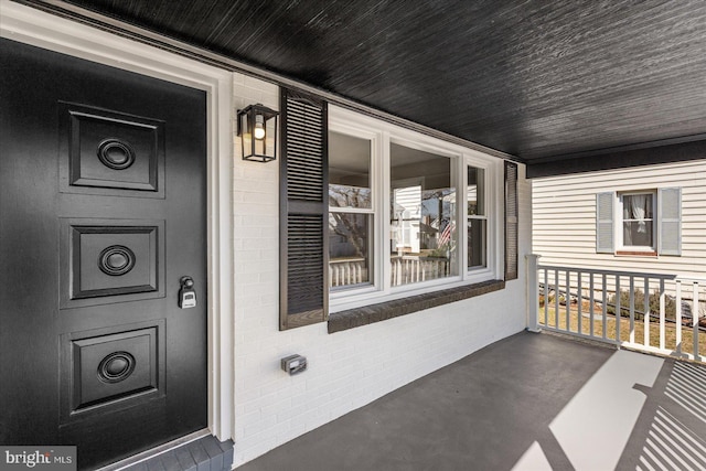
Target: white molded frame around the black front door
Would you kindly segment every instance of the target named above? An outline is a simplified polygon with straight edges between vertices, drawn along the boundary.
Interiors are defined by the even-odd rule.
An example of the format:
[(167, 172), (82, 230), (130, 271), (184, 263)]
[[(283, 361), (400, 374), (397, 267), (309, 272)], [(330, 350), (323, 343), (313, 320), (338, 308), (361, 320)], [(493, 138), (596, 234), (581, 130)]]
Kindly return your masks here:
[(208, 428), (233, 438), (233, 74), (0, 0), (0, 36), (206, 92)]

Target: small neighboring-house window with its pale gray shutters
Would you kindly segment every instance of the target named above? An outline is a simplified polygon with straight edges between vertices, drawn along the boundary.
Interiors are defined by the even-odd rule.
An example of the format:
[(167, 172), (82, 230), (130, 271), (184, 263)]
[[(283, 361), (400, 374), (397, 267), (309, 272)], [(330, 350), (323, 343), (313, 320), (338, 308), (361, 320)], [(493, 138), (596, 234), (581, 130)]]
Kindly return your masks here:
[(596, 194), (596, 251), (682, 255), (682, 189)]

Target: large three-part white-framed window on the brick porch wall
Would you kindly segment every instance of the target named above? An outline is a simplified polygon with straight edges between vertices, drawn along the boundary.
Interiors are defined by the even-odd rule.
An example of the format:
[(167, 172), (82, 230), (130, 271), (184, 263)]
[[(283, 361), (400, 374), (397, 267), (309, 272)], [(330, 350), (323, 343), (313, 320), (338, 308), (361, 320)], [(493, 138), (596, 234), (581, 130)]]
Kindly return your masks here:
[(502, 160), (334, 106), (328, 125), (332, 312), (502, 278)]

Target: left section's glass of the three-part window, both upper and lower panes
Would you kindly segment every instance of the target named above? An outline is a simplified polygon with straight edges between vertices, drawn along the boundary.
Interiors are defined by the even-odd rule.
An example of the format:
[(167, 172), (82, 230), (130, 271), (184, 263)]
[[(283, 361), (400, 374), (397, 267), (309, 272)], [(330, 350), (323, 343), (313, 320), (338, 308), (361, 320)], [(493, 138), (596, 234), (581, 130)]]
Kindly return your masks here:
[(329, 132), (329, 279), (332, 289), (371, 283), (371, 141)]

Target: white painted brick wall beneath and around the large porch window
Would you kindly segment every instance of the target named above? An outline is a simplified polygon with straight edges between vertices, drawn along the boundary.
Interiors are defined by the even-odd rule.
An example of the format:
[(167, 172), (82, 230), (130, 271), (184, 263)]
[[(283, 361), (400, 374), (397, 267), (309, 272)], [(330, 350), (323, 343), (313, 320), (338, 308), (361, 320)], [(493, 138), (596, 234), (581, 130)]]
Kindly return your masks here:
[[(234, 109), (278, 109), (278, 88), (234, 76)], [(234, 158), (235, 464), (525, 328), (524, 265), (506, 289), (335, 334), (279, 332), (277, 163)], [(521, 169), (521, 175), (524, 170)], [(531, 249), (531, 186), (521, 180), (521, 263)], [(288, 376), (282, 356), (307, 356)]]

